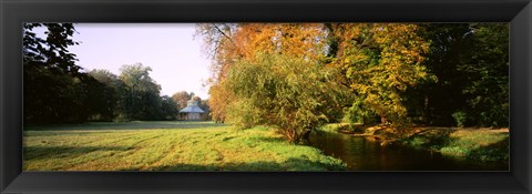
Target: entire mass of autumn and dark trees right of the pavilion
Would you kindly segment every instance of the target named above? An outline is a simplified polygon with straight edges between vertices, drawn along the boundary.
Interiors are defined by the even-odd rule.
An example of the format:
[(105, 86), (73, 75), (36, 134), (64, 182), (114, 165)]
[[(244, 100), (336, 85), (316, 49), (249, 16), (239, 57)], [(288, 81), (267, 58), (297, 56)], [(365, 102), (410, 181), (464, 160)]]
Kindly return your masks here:
[[(216, 121), (508, 126), (505, 23), (204, 23)], [(301, 68), (303, 67), (303, 68)]]

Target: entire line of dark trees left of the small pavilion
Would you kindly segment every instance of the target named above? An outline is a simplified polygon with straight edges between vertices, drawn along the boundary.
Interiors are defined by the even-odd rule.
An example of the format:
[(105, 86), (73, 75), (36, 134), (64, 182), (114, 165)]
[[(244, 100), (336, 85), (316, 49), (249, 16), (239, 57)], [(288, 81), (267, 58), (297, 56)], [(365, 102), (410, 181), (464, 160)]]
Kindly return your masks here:
[(150, 67), (123, 65), (120, 75), (84, 72), (68, 50), (78, 44), (74, 31), (72, 23), (24, 24), (24, 124), (176, 119), (177, 101), (160, 95)]

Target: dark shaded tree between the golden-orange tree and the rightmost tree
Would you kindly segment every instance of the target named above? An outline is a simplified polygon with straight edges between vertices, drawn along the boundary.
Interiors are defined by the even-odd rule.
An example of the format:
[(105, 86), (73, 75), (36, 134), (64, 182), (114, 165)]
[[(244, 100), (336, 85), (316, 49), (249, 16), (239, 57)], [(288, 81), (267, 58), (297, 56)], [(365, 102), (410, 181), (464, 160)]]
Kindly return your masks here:
[(453, 113), (462, 110), (466, 96), (462, 94), (466, 74), (459, 70), (460, 59), (470, 48), (469, 23), (422, 24), (420, 35), (431, 44), (422, 62), (438, 82), (423, 82), (406, 94), (413, 116), (429, 125), (454, 125)]

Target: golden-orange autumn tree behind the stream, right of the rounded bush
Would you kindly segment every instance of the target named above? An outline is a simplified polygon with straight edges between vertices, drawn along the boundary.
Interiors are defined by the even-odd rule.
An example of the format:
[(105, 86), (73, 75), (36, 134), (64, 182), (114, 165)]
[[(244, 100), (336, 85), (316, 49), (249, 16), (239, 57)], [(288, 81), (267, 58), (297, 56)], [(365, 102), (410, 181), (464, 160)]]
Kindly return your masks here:
[(434, 80), (421, 64), (429, 43), (416, 24), (334, 23), (330, 35), (337, 51), (331, 67), (344, 72), (356, 96), (351, 114), (361, 122), (372, 115), (382, 123), (403, 123), (407, 108), (402, 93), (423, 80)]

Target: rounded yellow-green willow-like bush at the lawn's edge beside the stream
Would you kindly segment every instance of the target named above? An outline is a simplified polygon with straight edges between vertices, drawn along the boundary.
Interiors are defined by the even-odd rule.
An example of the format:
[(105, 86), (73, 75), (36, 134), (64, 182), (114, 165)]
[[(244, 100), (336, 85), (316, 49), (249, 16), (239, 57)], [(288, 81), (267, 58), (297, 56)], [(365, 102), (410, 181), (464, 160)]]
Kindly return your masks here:
[(308, 140), (341, 112), (342, 91), (334, 69), (295, 57), (256, 54), (241, 60), (221, 86), (234, 94), (227, 122), (239, 129), (269, 125), (289, 142)]

